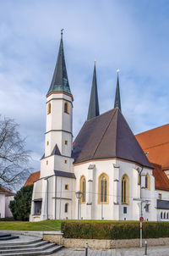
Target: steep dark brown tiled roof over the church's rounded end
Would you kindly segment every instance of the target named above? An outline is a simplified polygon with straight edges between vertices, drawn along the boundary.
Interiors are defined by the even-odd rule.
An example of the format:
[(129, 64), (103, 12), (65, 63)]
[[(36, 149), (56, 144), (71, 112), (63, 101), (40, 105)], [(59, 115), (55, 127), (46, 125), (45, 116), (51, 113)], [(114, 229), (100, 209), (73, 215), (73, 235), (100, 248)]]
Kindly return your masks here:
[(152, 168), (119, 109), (85, 122), (74, 141), (73, 156), (74, 163), (118, 158)]

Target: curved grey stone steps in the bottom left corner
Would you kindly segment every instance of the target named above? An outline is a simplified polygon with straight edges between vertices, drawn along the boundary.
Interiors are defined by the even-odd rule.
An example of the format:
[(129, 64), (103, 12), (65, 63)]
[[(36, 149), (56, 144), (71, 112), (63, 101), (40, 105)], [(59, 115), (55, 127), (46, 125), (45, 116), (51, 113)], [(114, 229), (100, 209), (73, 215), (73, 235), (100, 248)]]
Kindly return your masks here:
[(63, 248), (63, 246), (59, 246), (56, 243), (43, 241), (36, 237), (33, 238), (35, 239), (24, 237), (25, 242), (1, 242), (0, 256), (49, 255)]

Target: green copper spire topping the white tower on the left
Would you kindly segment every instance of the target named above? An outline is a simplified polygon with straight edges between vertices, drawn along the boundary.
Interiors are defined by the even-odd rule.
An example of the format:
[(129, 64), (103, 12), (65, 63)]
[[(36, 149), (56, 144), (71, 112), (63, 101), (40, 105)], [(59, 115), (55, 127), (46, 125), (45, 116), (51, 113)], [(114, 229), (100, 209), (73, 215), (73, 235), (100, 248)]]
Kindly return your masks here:
[(50, 92), (67, 92), (68, 94), (72, 95), (72, 93), (70, 92), (66, 63), (64, 59), (63, 30), (61, 30), (61, 42), (57, 55), (57, 64), (55, 66), (51, 86), (47, 94), (49, 94)]

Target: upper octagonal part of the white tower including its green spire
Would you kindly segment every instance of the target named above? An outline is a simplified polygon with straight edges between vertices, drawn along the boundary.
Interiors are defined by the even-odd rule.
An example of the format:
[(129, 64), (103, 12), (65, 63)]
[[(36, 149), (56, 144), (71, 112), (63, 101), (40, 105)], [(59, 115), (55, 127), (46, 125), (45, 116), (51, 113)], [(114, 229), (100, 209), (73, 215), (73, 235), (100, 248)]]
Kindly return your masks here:
[(46, 95), (45, 157), (52, 154), (71, 157), (72, 115), (73, 96), (68, 83), (62, 30), (57, 64)]

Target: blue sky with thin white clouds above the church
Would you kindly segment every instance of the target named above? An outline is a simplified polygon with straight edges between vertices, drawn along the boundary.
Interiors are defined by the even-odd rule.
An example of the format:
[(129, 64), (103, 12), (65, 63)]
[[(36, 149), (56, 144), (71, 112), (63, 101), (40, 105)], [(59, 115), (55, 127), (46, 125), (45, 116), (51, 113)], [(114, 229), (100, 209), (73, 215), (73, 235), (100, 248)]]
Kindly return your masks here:
[(14, 119), (40, 170), (46, 92), (63, 31), (74, 138), (86, 120), (96, 60), (101, 114), (114, 105), (134, 134), (169, 120), (168, 0), (0, 0), (0, 114)]

